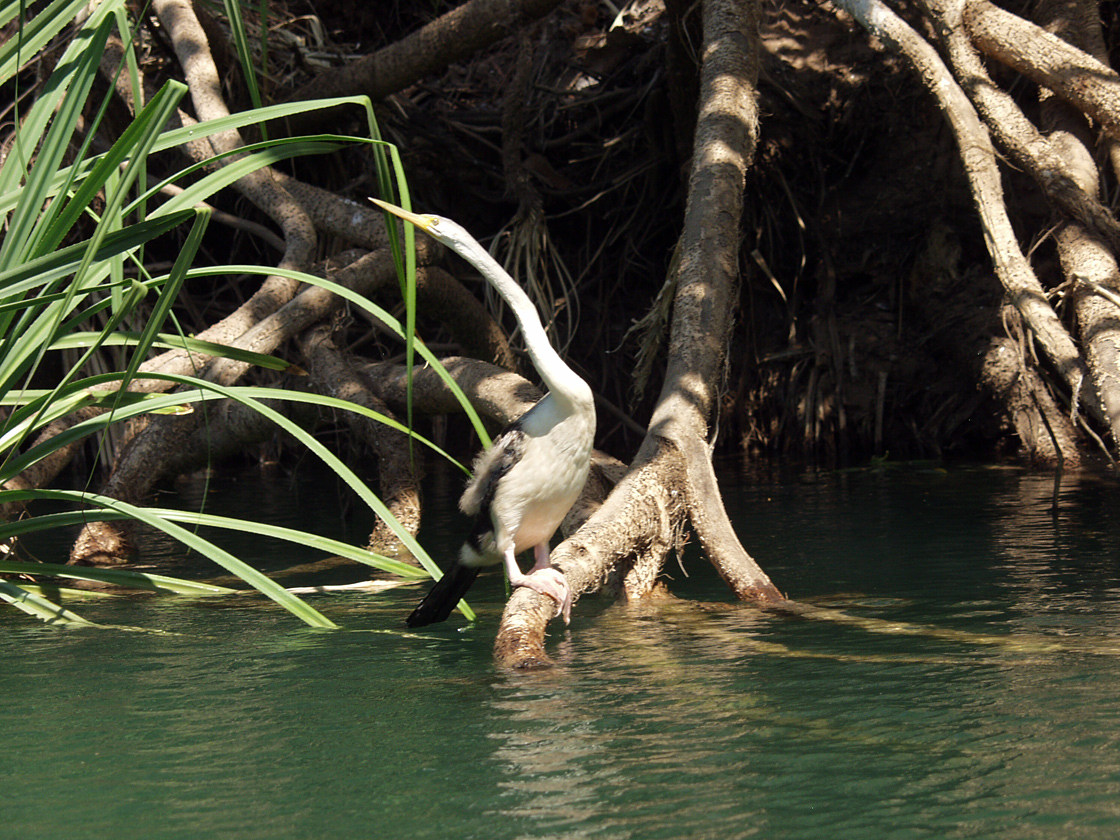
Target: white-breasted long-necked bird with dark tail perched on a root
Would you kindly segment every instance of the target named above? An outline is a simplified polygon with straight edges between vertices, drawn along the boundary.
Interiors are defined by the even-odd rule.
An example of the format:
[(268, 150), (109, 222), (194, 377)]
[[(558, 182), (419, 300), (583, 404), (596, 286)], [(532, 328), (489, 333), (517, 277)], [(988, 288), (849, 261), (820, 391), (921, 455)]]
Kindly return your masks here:
[[(549, 343), (533, 301), (458, 223), (417, 214), (371, 198), (411, 222), (469, 262), (513, 310), (529, 358), (548, 389), (474, 461), (459, 510), (474, 517), (470, 534), (444, 576), (405, 619), (410, 627), (446, 620), (482, 568), (504, 563), (512, 587), (529, 587), (557, 601), (556, 615), (571, 618), (571, 587), (551, 563), (549, 541), (587, 483), (595, 440), (595, 399)], [(533, 550), (524, 573), (517, 554)]]

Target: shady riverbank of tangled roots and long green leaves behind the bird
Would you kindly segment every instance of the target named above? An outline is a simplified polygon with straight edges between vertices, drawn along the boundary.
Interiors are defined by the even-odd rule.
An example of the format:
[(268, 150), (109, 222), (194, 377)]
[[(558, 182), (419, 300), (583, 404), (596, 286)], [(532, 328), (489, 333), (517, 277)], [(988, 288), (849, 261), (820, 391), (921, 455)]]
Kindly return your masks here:
[[(130, 354), (102, 338), (17, 366), (8, 389), (62, 382), (75, 403), (9, 409), (7, 428), (36, 418), (12, 444), (9, 492), (80, 476), (124, 511), (225, 458), (319, 446), (343, 465), (361, 451), (377, 464), (370, 548), (422, 557), (419, 482), (440, 456), (408, 429), (466, 459), (485, 432), (456, 417), (449, 382), (491, 430), (536, 393), (485, 284), (422, 237), (395, 248), (364, 200), (394, 188), (381, 137), (413, 206), (492, 246), (598, 395), (600, 451), (553, 556), (577, 592), (656, 591), (692, 533), (738, 597), (782, 601), (727, 521), (713, 448), (825, 466), (1114, 456), (1120, 80), (1117, 21), (1094, 3), (158, 0), (41, 32), (34, 21), (75, 19), (80, 4), (6, 8), (7, 119), (30, 133), (8, 139), (0, 195), (32, 197), (6, 205), (4, 253), (84, 242), (105, 265), (97, 293), (82, 286), (85, 256), (49, 280), (21, 274), (7, 317), (27, 324), (17, 315), (36, 295), (81, 292), (88, 302), (56, 326), (96, 306), (104, 336), (134, 335)], [(81, 32), (97, 49), (68, 55)], [(63, 96), (52, 80), (72, 63), (85, 86)], [(53, 94), (62, 108), (44, 105), (37, 129)], [(122, 139), (148, 146), (114, 156)], [(101, 160), (103, 180), (36, 187), (29, 167), (48, 157), (54, 172)], [(160, 268), (134, 268), (149, 263)], [(174, 305), (153, 302), (179, 286)], [(172, 316), (209, 344), (158, 353)], [(413, 326), (423, 343), (401, 338)], [(449, 376), (409, 375), (420, 348)], [(106, 391), (136, 394), (128, 404), (82, 382), (112, 371)], [(283, 389), (319, 404), (142, 405), (168, 374), (212, 383), (199, 393), (251, 388), (260, 403)], [(361, 410), (325, 411), (330, 400)], [(106, 408), (112, 433), (80, 433)], [(115, 422), (123, 410), (134, 417)], [(39, 446), (60, 440), (25, 467), (13, 459), (32, 428)], [(120, 522), (88, 522), (69, 560), (115, 566), (138, 548)], [(500, 656), (544, 661), (549, 615), (516, 592)]]

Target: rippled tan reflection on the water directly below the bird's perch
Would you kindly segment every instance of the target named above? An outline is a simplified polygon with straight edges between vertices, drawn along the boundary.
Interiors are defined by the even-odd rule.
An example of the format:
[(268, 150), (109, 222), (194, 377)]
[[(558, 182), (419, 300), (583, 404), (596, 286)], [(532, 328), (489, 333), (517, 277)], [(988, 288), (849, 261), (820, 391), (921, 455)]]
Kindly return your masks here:
[[(749, 634), (757, 613), (738, 615)], [(688, 605), (613, 610), (561, 646), (563, 671), (503, 675), (493, 759), (516, 795), (497, 813), (549, 837), (745, 836), (737, 791), (755, 774), (743, 747), (765, 701), (728, 682), (736, 633), (697, 633), (710, 618)]]

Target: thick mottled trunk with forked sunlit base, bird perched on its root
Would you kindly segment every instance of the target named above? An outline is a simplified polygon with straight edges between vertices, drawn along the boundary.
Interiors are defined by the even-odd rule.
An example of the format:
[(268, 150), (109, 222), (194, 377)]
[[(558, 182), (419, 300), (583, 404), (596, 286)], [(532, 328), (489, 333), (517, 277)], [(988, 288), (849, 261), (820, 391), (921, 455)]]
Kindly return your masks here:
[[(736, 595), (782, 600), (727, 520), (711, 469), (708, 422), (725, 363), (738, 271), (739, 220), (757, 140), (758, 7), (707, 2), (703, 64), (689, 200), (670, 337), (670, 365), (646, 438), (629, 470), (580, 530), (552, 552), (572, 592), (600, 588), (616, 568), (636, 569), (627, 595), (653, 588), (685, 520)], [(626, 577), (626, 572), (623, 573)], [(502, 616), (497, 661), (547, 663), (542, 596), (519, 591)]]

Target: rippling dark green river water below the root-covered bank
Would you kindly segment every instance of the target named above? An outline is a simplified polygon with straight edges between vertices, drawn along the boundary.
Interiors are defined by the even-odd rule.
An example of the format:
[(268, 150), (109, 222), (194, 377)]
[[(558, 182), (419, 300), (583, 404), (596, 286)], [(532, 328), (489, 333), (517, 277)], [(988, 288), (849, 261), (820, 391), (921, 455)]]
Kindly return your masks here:
[[(416, 587), (315, 596), (337, 633), (251, 597), (81, 606), (175, 635), (0, 610), (0, 837), (1120, 836), (1112, 479), (1067, 482), (1056, 516), (1049, 478), (1010, 469), (722, 482), (784, 590), (880, 623), (759, 614), (691, 553), (691, 577), (666, 569), (682, 600), (587, 598), (553, 625), (559, 666), (532, 674), (491, 662), (494, 577), (478, 625), (422, 637), (381, 632)], [(212, 496), (364, 526), (333, 491), (283, 489)], [(458, 536), (428, 524), (429, 543)], [(268, 568), (310, 559), (233, 545)]]

